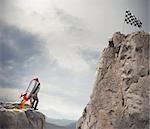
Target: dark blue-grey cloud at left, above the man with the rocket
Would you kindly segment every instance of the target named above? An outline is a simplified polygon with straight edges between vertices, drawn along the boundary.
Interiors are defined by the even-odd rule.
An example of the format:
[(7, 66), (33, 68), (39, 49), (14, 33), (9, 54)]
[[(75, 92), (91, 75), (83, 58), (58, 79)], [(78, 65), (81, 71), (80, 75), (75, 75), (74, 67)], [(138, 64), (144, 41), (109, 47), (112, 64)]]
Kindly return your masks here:
[[(0, 23), (0, 86), (21, 87), (22, 78), (38, 70), (48, 59), (37, 35)], [(53, 61), (49, 65), (53, 65)]]

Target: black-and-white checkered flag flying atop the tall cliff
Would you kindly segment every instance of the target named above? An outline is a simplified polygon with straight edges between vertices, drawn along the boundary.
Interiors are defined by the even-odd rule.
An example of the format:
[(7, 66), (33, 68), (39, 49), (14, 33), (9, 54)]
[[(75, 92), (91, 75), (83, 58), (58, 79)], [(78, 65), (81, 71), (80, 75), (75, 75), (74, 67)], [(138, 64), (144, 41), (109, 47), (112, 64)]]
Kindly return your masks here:
[(133, 15), (129, 9), (126, 10), (125, 14), (125, 22), (130, 25), (134, 25), (136, 27), (141, 28), (142, 27), (142, 22)]

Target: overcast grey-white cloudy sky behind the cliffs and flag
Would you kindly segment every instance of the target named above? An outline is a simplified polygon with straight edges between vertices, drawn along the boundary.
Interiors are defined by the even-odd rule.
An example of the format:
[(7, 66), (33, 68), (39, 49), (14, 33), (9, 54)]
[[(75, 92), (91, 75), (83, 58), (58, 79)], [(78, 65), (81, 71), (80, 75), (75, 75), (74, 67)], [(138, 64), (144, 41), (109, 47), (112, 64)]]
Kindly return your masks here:
[(0, 101), (20, 101), (39, 77), (39, 110), (77, 120), (89, 101), (107, 40), (124, 25), (126, 8), (148, 32), (149, 0), (0, 0)]

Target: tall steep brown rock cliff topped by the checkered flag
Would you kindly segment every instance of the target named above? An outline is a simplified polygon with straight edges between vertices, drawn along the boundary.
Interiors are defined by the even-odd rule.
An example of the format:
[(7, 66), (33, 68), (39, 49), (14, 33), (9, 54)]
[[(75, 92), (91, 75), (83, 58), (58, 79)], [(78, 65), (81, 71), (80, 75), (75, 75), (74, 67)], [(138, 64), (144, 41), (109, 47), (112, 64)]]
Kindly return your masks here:
[(115, 33), (76, 129), (149, 129), (149, 34)]

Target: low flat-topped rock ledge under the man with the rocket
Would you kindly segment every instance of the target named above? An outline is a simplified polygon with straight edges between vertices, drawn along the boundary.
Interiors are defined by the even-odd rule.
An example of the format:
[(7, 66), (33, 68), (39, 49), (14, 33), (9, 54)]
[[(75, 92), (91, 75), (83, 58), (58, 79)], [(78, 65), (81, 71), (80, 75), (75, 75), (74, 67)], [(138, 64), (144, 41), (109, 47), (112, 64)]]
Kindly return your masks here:
[(18, 104), (0, 103), (0, 129), (44, 128), (45, 116), (42, 113), (18, 107)]

